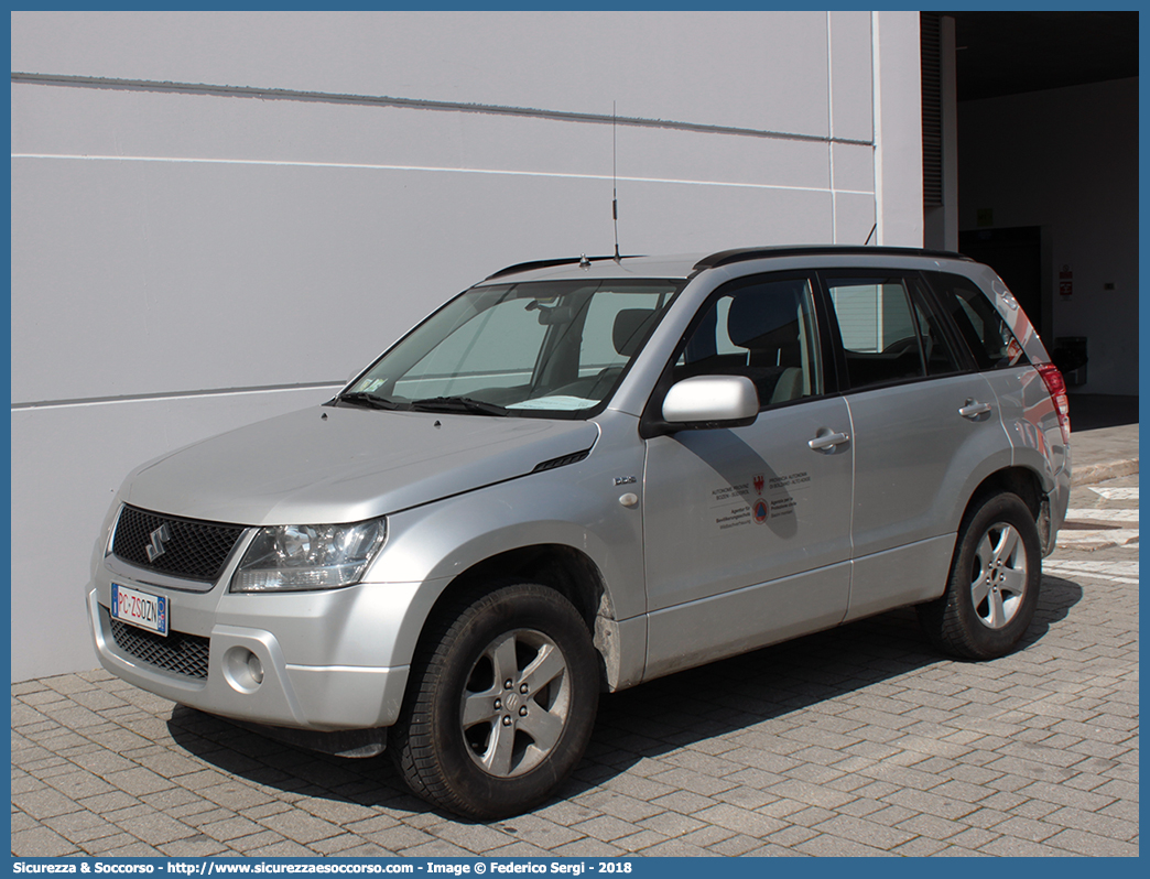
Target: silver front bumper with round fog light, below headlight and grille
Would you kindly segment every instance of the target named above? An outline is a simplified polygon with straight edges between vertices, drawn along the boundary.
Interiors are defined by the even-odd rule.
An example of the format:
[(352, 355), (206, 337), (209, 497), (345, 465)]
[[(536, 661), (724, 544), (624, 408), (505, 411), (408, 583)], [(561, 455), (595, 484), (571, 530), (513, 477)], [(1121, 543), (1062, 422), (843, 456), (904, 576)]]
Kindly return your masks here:
[[(390, 629), (398, 630), (414, 587), (230, 595), (221, 583), (190, 593), (125, 576), (125, 568), (116, 567), (98, 570), (87, 614), (100, 663), (118, 678), (254, 724), (328, 732), (390, 726), (399, 716), (408, 665), (386, 664), (396, 634)], [(128, 627), (120, 629), (120, 643), (108, 611), (113, 581), (167, 597), (178, 639)], [(200, 653), (191, 671), (167, 655), (183, 651), (186, 642)], [(260, 673), (253, 675), (253, 667)]]

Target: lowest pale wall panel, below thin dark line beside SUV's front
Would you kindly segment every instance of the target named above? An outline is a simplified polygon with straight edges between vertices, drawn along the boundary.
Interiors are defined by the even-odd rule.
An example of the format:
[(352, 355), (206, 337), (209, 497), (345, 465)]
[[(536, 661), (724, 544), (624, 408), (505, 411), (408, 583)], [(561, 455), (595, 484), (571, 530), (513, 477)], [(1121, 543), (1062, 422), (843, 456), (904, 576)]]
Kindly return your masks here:
[(97, 665), (84, 584), (116, 489), (135, 467), (331, 389), (17, 408), (12, 413), (12, 679)]

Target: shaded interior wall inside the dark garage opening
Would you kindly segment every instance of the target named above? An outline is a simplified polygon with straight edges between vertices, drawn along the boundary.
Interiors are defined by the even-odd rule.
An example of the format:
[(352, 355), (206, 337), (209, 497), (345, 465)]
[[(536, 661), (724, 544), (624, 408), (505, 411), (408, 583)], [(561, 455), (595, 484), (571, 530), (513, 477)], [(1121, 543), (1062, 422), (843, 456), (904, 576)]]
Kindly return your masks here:
[[(1136, 395), (1138, 81), (958, 106), (959, 127), (982, 132), (960, 139), (961, 228), (977, 228), (980, 208), (992, 209), (999, 228), (1046, 227), (1049, 347), (1059, 336), (1086, 336), (1088, 381), (1075, 390)], [(1073, 273), (1068, 297), (1058, 290), (1063, 266)]]

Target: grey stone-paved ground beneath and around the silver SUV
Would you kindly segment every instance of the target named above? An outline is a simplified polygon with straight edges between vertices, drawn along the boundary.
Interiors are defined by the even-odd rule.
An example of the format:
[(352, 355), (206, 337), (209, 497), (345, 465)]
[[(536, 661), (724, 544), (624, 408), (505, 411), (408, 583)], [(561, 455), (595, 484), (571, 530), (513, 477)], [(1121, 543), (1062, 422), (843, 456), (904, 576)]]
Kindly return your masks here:
[[(1129, 529), (1107, 517), (1137, 477), (1097, 488), (1068, 534)], [(1136, 540), (1071, 540), (1013, 656), (941, 659), (900, 611), (605, 696), (562, 798), (490, 825), (431, 811), (385, 759), (294, 750), (103, 672), (28, 681), (13, 853), (1137, 855), (1137, 612)]]

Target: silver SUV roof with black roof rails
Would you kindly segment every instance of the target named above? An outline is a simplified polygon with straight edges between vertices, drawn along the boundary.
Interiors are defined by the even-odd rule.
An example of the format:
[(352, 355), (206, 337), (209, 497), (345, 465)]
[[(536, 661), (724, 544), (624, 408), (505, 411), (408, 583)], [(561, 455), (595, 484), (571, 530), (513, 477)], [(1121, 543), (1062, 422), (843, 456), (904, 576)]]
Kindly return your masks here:
[(784, 245), (775, 247), (742, 247), (716, 253), (688, 253), (667, 257), (568, 257), (562, 259), (520, 262), (500, 269), (484, 278), (484, 284), (523, 283), (529, 281), (564, 281), (586, 278), (689, 278), (710, 268), (735, 262), (762, 259), (793, 259), (819, 257), (889, 257), (961, 260), (968, 257), (949, 251), (919, 247), (868, 247), (858, 245)]

